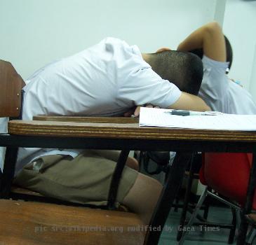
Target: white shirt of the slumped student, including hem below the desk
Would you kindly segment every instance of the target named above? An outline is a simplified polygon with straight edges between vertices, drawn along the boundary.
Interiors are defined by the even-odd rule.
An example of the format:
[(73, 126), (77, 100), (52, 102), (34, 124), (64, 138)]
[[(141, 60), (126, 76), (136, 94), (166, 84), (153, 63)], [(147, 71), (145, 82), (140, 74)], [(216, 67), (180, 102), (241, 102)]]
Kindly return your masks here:
[[(25, 82), (23, 120), (36, 115), (122, 116), (133, 106), (167, 108), (181, 91), (156, 74), (136, 45), (105, 38), (93, 47), (46, 65)], [(20, 148), (17, 173), (43, 155), (71, 155), (82, 150)]]

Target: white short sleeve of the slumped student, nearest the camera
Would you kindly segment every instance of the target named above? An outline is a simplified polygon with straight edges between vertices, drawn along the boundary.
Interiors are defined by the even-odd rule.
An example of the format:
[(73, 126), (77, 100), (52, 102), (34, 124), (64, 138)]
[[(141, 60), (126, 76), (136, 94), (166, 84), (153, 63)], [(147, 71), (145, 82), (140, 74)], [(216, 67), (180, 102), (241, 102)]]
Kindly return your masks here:
[(182, 92), (173, 83), (163, 80), (147, 64), (133, 70), (121, 83), (118, 93), (119, 102), (122, 103), (133, 101), (135, 106), (153, 104), (168, 108)]

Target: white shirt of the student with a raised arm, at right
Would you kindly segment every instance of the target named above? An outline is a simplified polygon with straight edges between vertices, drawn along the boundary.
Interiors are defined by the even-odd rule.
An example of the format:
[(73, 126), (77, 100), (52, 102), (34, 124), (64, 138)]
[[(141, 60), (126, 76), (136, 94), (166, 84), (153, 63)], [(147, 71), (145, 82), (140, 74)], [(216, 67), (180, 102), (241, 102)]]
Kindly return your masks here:
[(229, 114), (256, 114), (251, 94), (226, 75), (228, 62), (218, 62), (203, 56), (203, 80), (198, 96), (213, 111)]

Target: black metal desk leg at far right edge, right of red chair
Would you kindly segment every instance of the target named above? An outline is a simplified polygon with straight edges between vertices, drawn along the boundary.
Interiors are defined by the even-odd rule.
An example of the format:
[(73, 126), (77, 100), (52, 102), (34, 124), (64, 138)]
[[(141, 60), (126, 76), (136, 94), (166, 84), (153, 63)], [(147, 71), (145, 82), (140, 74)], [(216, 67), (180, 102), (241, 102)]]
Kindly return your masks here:
[(237, 238), (237, 242), (236, 242), (236, 244), (238, 244), (238, 245), (245, 244), (246, 232), (248, 229), (248, 223), (245, 219), (245, 214), (250, 214), (250, 211), (252, 210), (252, 202), (253, 202), (253, 197), (254, 197), (254, 193), (255, 193), (255, 187), (256, 187), (256, 153), (253, 153), (252, 154), (252, 169), (250, 170), (250, 179), (248, 182), (245, 207), (243, 208), (243, 211), (241, 212), (241, 224), (239, 226), (238, 238)]

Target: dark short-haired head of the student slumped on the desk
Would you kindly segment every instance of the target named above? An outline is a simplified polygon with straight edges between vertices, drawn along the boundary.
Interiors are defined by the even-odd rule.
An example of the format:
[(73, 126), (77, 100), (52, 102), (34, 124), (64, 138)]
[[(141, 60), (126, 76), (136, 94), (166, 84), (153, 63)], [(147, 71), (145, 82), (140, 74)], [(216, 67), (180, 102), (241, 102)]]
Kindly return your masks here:
[(201, 59), (189, 52), (158, 50), (143, 55), (145, 61), (161, 78), (174, 83), (180, 90), (198, 94), (203, 78)]

